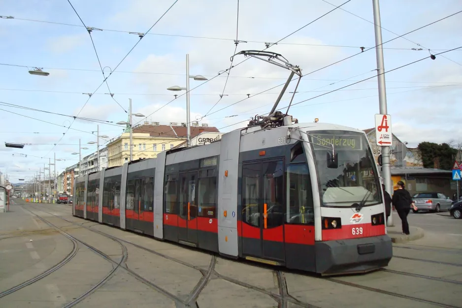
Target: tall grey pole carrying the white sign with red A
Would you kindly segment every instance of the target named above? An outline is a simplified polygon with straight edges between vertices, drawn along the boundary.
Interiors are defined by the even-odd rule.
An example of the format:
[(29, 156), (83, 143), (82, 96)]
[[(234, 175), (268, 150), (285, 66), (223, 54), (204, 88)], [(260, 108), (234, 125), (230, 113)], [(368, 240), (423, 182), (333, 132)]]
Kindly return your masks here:
[[(387, 91), (385, 87), (385, 65), (383, 61), (382, 27), (380, 26), (379, 0), (372, 0), (374, 11), (375, 48), (377, 58), (377, 80), (379, 88), (380, 114), (387, 114)], [(382, 146), (382, 177), (385, 190), (392, 194), (392, 174), (390, 169), (390, 147)], [(393, 215), (388, 216), (387, 226), (393, 226)]]

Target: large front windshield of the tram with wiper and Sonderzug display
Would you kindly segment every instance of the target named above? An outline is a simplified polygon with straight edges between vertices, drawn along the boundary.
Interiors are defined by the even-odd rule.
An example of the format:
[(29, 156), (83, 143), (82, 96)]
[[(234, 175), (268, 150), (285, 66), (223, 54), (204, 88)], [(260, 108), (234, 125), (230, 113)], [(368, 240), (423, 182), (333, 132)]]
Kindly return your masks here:
[[(307, 132), (314, 153), (322, 206), (363, 206), (382, 202), (375, 160), (365, 136), (348, 131)], [(338, 155), (329, 168), (327, 155)], [(332, 166), (330, 166), (332, 167)]]

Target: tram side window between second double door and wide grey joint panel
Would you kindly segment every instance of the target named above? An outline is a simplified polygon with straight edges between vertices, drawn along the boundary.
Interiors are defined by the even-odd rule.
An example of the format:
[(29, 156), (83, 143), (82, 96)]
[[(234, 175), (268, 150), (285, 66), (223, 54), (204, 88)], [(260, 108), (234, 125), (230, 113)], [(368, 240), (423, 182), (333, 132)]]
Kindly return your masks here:
[(198, 216), (215, 218), (217, 209), (217, 178), (214, 169), (202, 170), (199, 173)]

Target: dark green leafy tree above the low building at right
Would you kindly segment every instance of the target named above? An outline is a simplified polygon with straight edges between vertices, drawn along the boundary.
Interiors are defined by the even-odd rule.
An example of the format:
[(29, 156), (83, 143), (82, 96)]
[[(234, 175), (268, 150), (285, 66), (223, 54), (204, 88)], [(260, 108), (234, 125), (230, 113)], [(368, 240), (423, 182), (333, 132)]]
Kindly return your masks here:
[(434, 168), (435, 159), (439, 162), (439, 168), (442, 170), (451, 170), (457, 150), (452, 148), (448, 143), (437, 144), (434, 142), (421, 142), (417, 146), (422, 155), (422, 164), (425, 168)]

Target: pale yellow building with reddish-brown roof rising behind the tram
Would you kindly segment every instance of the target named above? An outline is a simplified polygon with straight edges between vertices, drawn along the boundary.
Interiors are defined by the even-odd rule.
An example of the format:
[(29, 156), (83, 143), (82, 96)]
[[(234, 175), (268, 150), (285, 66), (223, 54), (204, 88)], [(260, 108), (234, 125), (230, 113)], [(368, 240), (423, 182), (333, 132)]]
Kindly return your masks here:
[[(216, 127), (192, 126), (191, 138), (204, 132), (218, 132)], [(133, 160), (144, 158), (155, 158), (162, 151), (173, 149), (185, 143), (186, 124), (170, 123), (170, 125), (160, 125), (159, 122), (139, 125), (133, 127), (132, 133), (132, 155)], [(122, 166), (130, 160), (130, 130), (127, 129), (117, 139), (111, 140), (107, 144), (108, 163), (107, 167)]]

